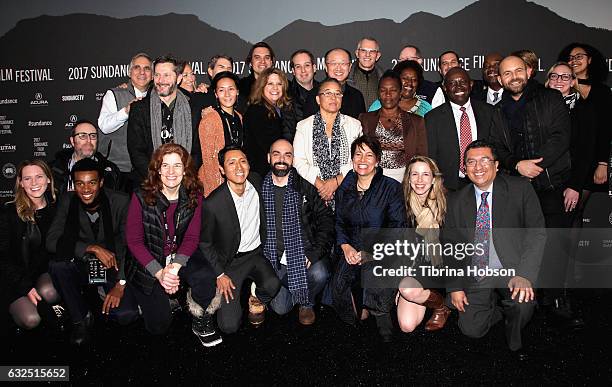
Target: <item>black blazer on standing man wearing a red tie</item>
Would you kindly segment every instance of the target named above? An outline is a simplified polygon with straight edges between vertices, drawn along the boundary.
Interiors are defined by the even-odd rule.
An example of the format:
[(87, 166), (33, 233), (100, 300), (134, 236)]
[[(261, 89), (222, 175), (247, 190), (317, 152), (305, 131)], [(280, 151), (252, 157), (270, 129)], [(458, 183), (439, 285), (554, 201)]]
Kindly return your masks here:
[[(471, 99), (471, 104), (476, 118), (478, 139), (486, 140), (491, 128), (501, 125), (501, 116), (485, 102)], [(444, 186), (451, 190), (459, 189), (459, 137), (450, 102), (427, 113), (425, 127), (429, 157), (438, 163), (444, 177)]]

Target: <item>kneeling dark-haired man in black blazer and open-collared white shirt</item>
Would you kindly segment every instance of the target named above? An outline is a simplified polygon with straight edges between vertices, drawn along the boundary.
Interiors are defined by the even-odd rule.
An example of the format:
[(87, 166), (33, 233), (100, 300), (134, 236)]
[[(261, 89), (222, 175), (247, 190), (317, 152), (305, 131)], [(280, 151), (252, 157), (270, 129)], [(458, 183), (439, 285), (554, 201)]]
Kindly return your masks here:
[(240, 296), (247, 278), (256, 284), (249, 297), (249, 321), (264, 320), (265, 303), (280, 289), (280, 281), (262, 251), (266, 241), (265, 207), (260, 179), (249, 176), (247, 157), (237, 146), (219, 152), (221, 173), (227, 182), (215, 189), (202, 204), (200, 249), (217, 276), (222, 294), (217, 325), (224, 333), (238, 331), (242, 319)]

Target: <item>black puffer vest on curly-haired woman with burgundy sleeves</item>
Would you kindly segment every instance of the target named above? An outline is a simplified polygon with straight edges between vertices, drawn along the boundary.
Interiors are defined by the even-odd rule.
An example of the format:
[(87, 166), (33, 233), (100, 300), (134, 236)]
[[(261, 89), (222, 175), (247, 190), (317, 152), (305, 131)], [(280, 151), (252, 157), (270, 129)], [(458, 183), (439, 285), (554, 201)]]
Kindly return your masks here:
[[(144, 227), (145, 245), (155, 260), (162, 267), (166, 266), (164, 256), (164, 225), (163, 212), (170, 206), (170, 202), (162, 194), (157, 197), (157, 202), (149, 206), (145, 201), (141, 190), (136, 192), (136, 197), (142, 206), (142, 223)], [(174, 224), (176, 225), (176, 244), (180, 246), (183, 242), (185, 231), (193, 218), (196, 207), (189, 207), (189, 197), (184, 187), (180, 188), (179, 201), (174, 212)], [(177, 222), (178, 220), (178, 222)], [(131, 276), (134, 285), (139, 286), (145, 294), (151, 294), (153, 285), (157, 279), (149, 273), (140, 263), (133, 265), (135, 271)], [(129, 278), (129, 277), (128, 277)]]

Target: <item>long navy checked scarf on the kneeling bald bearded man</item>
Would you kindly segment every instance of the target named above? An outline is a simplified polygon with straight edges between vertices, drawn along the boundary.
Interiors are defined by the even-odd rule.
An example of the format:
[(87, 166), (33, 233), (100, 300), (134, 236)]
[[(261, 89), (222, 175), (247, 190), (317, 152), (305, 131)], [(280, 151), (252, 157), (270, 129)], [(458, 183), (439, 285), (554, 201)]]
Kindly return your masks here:
[[(309, 303), (308, 282), (306, 280), (306, 255), (300, 228), (300, 210), (302, 195), (293, 188), (294, 171), (289, 172), (287, 191), (283, 198), (283, 241), (287, 255), (287, 280), (293, 304), (307, 305)], [(267, 238), (264, 245), (264, 255), (278, 273), (276, 253), (276, 216), (274, 201), (274, 183), (272, 172), (264, 178), (261, 194), (266, 210)]]

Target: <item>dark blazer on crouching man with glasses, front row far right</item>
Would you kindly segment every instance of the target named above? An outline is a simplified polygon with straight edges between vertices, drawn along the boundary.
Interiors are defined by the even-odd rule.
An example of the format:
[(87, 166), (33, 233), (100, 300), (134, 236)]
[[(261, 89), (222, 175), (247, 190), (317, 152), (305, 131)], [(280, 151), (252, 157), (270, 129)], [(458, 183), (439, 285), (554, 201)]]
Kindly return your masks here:
[[(476, 212), (473, 184), (450, 195), (443, 240), (473, 243)], [(516, 275), (535, 285), (546, 243), (546, 225), (538, 196), (529, 180), (498, 174), (493, 181), (491, 216), (493, 244), (503, 267), (515, 269)], [(462, 264), (471, 265), (470, 257)], [(452, 284), (450, 291), (461, 290), (455, 287), (457, 282)]]

